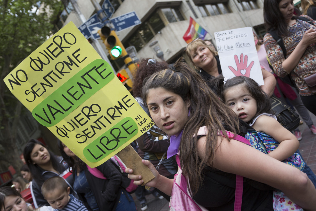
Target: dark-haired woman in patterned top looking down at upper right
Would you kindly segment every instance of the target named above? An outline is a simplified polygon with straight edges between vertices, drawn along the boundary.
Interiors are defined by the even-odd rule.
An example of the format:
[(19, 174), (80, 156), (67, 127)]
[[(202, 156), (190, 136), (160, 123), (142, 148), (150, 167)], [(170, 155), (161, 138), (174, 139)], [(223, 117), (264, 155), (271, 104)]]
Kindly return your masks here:
[(293, 0), (264, 0), (264, 46), (276, 75), (289, 75), (305, 107), (316, 115), (316, 22), (293, 13)]

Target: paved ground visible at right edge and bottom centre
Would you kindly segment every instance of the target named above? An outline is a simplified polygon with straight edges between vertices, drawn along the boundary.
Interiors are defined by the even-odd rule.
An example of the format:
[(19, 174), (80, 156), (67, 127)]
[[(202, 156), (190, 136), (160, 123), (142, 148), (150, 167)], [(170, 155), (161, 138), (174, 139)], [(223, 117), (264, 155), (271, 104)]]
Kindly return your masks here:
[[(316, 125), (316, 116), (310, 113), (310, 116)], [(316, 135), (314, 135), (305, 123), (299, 126), (302, 133), (299, 150), (307, 163), (307, 165), (316, 174)], [(132, 194), (137, 206), (137, 211), (141, 211), (140, 204), (136, 199), (135, 194)], [(153, 195), (146, 195), (148, 209), (147, 211), (167, 211), (169, 210), (169, 202), (166, 199), (158, 199)]]

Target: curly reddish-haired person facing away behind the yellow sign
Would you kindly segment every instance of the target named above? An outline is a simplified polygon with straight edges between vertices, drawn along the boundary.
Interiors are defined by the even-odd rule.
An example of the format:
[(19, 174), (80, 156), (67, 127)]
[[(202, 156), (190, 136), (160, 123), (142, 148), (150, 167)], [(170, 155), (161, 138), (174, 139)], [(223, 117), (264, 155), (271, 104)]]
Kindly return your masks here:
[[(133, 96), (140, 106), (149, 115), (148, 108), (144, 106), (141, 98), (143, 81), (153, 73), (167, 68), (169, 65), (165, 61), (157, 61), (156, 59), (141, 59), (138, 63), (137, 71), (133, 77)], [(146, 133), (137, 138), (137, 153), (142, 159), (149, 160), (158, 170), (158, 172), (168, 178), (173, 178), (174, 174), (177, 173), (178, 167), (175, 162), (174, 156), (167, 158), (167, 149), (169, 147), (169, 138), (166, 134), (162, 133), (161, 130), (154, 125)], [(164, 194), (158, 189), (151, 192), (156, 197), (157, 191), (165, 199), (170, 201), (170, 196)], [(145, 186), (138, 186), (135, 195), (141, 204), (141, 209), (146, 210), (147, 202), (145, 198)], [(145, 208), (143, 208), (145, 207)]]

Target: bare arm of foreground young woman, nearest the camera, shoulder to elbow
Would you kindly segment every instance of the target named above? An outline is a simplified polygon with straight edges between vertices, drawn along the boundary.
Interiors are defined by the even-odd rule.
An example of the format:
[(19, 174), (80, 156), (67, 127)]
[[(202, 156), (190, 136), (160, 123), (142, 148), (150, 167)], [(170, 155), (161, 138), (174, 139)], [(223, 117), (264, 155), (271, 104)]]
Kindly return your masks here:
[[(240, 141), (218, 138), (213, 167), (280, 189), (302, 208), (316, 210), (316, 189), (302, 171)], [(205, 143), (205, 136), (197, 142), (201, 158), (205, 156)]]

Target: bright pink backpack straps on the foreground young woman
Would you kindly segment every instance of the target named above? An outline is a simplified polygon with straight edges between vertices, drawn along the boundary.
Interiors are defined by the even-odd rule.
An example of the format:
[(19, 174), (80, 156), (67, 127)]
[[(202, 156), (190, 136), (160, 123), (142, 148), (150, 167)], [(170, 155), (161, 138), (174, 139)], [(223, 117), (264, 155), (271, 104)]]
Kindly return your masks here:
[[(240, 135), (235, 135), (232, 132), (229, 131), (225, 131), (226, 134), (228, 135), (228, 138), (230, 139), (234, 139), (234, 140), (238, 140), (240, 142), (243, 142), (247, 145), (250, 145), (249, 140), (247, 140), (246, 138), (240, 136)], [(199, 130), (197, 131), (197, 135), (206, 135), (208, 133), (207, 128), (204, 127), (200, 127)], [(218, 135), (222, 135), (223, 133), (222, 131), (219, 131), (217, 133)], [(177, 163), (178, 163), (178, 159), (179, 156), (177, 155)], [(180, 166), (180, 159), (179, 159), (179, 163), (178, 165)], [(181, 180), (182, 183), (182, 180)], [(186, 181), (185, 181), (186, 183)], [(181, 184), (182, 186), (182, 184)], [(234, 211), (240, 211), (241, 210), (241, 202), (242, 202), (242, 191), (243, 191), (243, 187), (244, 187), (244, 177), (240, 176), (240, 175), (236, 175), (236, 190), (235, 190), (235, 203), (234, 203)]]

